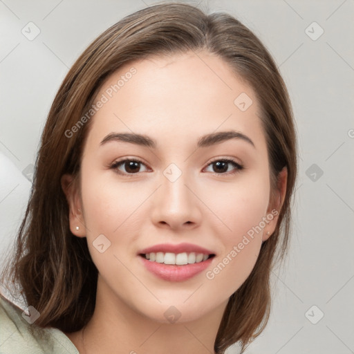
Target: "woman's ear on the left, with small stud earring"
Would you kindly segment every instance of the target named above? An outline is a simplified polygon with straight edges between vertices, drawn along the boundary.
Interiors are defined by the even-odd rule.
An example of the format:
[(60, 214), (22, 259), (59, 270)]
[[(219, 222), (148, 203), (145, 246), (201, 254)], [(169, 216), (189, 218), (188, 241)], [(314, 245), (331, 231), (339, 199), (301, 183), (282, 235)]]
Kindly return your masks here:
[(70, 174), (64, 174), (61, 179), (61, 184), (66, 196), (66, 201), (68, 202), (70, 230), (75, 236), (85, 237), (86, 228), (75, 178)]

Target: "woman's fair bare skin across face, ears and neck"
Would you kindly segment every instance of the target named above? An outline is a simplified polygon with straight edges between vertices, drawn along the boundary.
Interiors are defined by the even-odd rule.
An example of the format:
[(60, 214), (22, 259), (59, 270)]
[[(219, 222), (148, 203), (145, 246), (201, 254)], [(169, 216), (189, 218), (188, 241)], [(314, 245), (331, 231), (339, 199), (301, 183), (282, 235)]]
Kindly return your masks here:
[[(228, 298), (248, 278), (277, 217), (249, 238), (214, 279), (207, 279), (206, 272), (272, 209), (280, 209), (286, 169), (280, 175), (277, 198), (271, 200), (259, 104), (252, 88), (220, 58), (185, 53), (126, 64), (109, 77), (97, 97), (132, 66), (136, 75), (92, 118), (81, 188), (69, 186), (72, 176), (62, 178), (71, 232), (87, 238), (99, 271), (95, 312), (84, 337), (82, 330), (66, 335), (80, 353), (214, 353)], [(244, 112), (234, 104), (243, 92), (253, 101)], [(232, 139), (196, 149), (200, 136), (230, 129), (248, 136), (254, 147)], [(146, 134), (158, 146), (150, 149), (117, 141), (100, 146), (111, 132)], [(109, 169), (124, 158), (142, 160), (131, 178)], [(223, 158), (234, 159), (244, 169), (232, 175), (236, 170), (232, 164), (225, 172), (211, 164)], [(174, 182), (163, 174), (171, 163), (182, 172)], [(118, 171), (131, 172), (127, 164)], [(103, 253), (93, 246), (100, 234), (111, 242)], [(137, 255), (151, 245), (182, 242), (216, 254), (205, 272), (187, 281), (158, 279)], [(164, 316), (170, 306), (181, 314), (174, 324)]]

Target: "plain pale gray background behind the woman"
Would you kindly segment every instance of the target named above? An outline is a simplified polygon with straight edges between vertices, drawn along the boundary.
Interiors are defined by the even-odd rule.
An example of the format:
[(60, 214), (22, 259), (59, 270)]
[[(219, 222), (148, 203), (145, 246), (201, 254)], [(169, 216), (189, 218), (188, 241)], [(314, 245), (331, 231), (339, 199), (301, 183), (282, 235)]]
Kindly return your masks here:
[[(291, 251), (286, 267), (273, 272), (270, 322), (246, 353), (354, 353), (354, 1), (184, 2), (229, 12), (259, 36), (286, 81), (297, 122)], [(2, 255), (23, 216), (30, 165), (68, 68), (106, 28), (153, 3), (0, 0)]]

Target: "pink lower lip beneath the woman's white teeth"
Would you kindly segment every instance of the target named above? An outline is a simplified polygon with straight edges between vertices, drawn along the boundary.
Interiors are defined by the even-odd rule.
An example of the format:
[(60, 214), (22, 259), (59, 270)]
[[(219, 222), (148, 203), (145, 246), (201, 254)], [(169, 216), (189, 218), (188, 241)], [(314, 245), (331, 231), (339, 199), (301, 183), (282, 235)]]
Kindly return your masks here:
[(196, 276), (196, 274), (203, 272), (203, 270), (209, 267), (215, 256), (207, 259), (206, 261), (185, 265), (169, 265), (165, 263), (153, 262), (142, 256), (139, 256), (139, 258), (142, 260), (142, 263), (145, 265), (147, 270), (155, 274), (156, 277), (167, 281), (185, 281)]

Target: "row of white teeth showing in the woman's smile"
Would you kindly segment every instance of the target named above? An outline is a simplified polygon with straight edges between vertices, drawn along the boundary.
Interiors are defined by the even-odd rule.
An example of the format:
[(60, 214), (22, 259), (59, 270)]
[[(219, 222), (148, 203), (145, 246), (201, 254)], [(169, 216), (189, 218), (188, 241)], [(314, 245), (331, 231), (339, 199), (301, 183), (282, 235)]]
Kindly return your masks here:
[(206, 261), (209, 258), (209, 254), (196, 253), (196, 252), (183, 252), (183, 253), (171, 253), (171, 252), (151, 252), (145, 254), (145, 258), (149, 261), (165, 264), (184, 265), (191, 263), (200, 263)]

